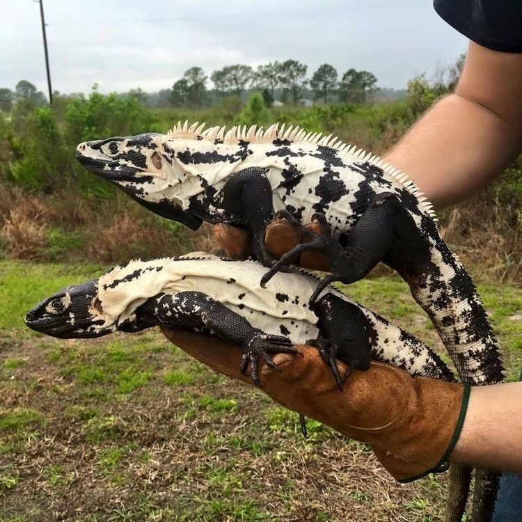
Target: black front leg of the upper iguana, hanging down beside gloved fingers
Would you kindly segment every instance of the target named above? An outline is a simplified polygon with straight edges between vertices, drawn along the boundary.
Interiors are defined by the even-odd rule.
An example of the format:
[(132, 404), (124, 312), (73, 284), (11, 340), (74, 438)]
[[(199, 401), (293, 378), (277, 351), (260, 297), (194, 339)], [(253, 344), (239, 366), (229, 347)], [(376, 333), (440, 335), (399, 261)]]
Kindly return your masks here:
[[(264, 168), (249, 167), (238, 171), (223, 186), (223, 207), (227, 213), (244, 221), (252, 232), (252, 251), (265, 267), (271, 267), (272, 258), (264, 235), (272, 220), (272, 189)], [(284, 269), (283, 269), (284, 270)]]

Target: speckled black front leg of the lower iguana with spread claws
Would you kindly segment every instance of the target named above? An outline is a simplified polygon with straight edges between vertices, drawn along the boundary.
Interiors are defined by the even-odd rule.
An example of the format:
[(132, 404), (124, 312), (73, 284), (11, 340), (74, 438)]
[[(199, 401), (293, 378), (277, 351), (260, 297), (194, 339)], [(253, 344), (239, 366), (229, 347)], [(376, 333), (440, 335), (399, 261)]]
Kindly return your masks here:
[(207, 331), (232, 342), (243, 351), (241, 371), (251, 366), (252, 379), (260, 385), (259, 358), (277, 368), (269, 354), (293, 354), (290, 339), (254, 328), (244, 317), (202, 292), (158, 294), (136, 310), (141, 322), (169, 328)]

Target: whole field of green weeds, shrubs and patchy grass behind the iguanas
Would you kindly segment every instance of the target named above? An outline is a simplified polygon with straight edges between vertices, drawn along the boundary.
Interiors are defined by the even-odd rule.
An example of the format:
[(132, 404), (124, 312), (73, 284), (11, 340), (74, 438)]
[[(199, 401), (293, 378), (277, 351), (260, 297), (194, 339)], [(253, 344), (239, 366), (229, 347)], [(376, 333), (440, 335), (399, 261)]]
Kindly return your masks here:
[[(266, 93), (264, 93), (266, 94)], [(364, 445), (260, 390), (191, 360), (155, 330), (55, 340), (23, 317), (59, 288), (129, 258), (212, 250), (146, 212), (74, 159), (79, 141), (209, 125), (274, 121), (333, 133), (381, 153), (443, 91), (423, 77), (404, 100), (149, 109), (139, 93), (56, 97), (0, 111), (0, 520), (436, 521), (446, 477), (400, 485)], [(507, 377), (522, 365), (522, 163), (441, 214), (445, 237), (478, 283)], [(385, 267), (343, 289), (443, 354), (429, 319)]]

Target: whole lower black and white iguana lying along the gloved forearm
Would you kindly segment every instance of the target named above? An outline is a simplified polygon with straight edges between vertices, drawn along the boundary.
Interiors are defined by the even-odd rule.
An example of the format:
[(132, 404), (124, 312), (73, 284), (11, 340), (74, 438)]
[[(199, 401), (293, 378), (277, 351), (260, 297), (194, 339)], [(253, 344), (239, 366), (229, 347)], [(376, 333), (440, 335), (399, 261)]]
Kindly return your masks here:
[(241, 347), (242, 372), (251, 364), (259, 383), (258, 358), (315, 345), (331, 367), (335, 354), (350, 368), (365, 370), (370, 358), (413, 375), (453, 380), (441, 359), (418, 339), (351, 301), (332, 287), (313, 308), (308, 299), (319, 280), (299, 270), (278, 274), (260, 287), (262, 264), (190, 253), (180, 258), (135, 260), (99, 279), (66, 287), (25, 318), (29, 328), (58, 338), (95, 338), (114, 331), (168, 326), (214, 333)]

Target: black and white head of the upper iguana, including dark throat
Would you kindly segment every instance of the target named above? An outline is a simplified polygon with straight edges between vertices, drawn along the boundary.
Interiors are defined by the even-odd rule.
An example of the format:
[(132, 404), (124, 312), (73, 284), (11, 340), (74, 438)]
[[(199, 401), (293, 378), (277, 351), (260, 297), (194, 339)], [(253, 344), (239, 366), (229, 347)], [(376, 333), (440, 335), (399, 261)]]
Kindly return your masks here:
[(116, 184), (145, 208), (196, 230), (203, 222), (192, 214), (180, 186), (190, 177), (175, 159), (164, 134), (139, 134), (84, 141), (76, 150), (78, 161)]

